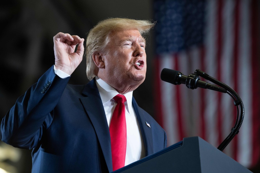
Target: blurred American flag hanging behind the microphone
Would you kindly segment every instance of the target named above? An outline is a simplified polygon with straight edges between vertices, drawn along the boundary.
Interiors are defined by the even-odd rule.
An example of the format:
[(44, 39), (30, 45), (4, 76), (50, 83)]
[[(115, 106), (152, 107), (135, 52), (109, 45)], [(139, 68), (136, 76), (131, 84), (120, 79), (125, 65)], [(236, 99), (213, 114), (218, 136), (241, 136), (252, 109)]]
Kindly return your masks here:
[(154, 1), (155, 105), (168, 146), (200, 136), (218, 147), (235, 125), (237, 108), (228, 94), (160, 80), (163, 68), (184, 75), (200, 69), (233, 88), (244, 103), (242, 126), (223, 152), (247, 168), (259, 161), (257, 6), (257, 0)]

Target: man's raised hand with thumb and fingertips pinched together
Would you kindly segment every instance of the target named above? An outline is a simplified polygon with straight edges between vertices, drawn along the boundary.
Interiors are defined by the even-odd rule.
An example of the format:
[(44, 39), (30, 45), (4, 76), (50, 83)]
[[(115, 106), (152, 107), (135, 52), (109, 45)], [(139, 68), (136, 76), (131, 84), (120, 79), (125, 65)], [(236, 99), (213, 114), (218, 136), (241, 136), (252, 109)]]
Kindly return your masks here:
[[(84, 39), (59, 32), (53, 37), (55, 68), (71, 75), (82, 61)], [(75, 51), (76, 45), (77, 51)]]

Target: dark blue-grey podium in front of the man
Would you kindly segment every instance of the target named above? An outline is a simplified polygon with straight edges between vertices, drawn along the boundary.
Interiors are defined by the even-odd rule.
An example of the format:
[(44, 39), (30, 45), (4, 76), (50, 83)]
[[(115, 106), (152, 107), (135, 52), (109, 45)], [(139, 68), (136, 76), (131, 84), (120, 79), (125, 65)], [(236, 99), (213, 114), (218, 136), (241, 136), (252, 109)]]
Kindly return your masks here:
[(250, 170), (200, 137), (188, 137), (113, 173), (249, 173)]

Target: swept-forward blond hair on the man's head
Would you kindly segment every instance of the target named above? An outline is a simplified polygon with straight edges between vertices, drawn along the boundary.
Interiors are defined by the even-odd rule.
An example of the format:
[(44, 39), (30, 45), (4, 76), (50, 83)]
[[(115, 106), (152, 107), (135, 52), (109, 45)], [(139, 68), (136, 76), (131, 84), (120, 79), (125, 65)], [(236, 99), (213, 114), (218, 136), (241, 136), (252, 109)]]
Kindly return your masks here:
[(155, 23), (149, 20), (134, 20), (127, 18), (108, 18), (94, 26), (88, 34), (86, 43), (87, 78), (92, 80), (95, 77), (95, 63), (92, 55), (95, 52), (104, 52), (109, 42), (109, 34), (112, 31), (125, 31), (137, 29), (142, 36), (147, 34)]

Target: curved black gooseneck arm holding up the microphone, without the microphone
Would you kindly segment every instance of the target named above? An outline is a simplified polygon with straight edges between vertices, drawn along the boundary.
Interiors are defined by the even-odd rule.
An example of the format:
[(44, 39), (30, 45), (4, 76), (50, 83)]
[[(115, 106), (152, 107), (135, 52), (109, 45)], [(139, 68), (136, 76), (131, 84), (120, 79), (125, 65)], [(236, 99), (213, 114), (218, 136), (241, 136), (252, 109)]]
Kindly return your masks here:
[(235, 106), (237, 106), (237, 120), (236, 120), (235, 126), (231, 129), (231, 133), (228, 135), (228, 137), (226, 137), (226, 139), (218, 146), (218, 149), (220, 151), (223, 151), (226, 148), (226, 146), (230, 143), (230, 141), (235, 137), (235, 135), (238, 134), (238, 132), (239, 132), (239, 129), (244, 120), (244, 113), (245, 113), (244, 104), (243, 104), (240, 96), (228, 85), (220, 82), (219, 80), (211, 77), (210, 75), (206, 74), (205, 72), (203, 72), (199, 69), (197, 69), (195, 71), (195, 73), (198, 74), (199, 76), (213, 82), (214, 84), (217, 84), (220, 87), (226, 89), (227, 93), (233, 98)]

